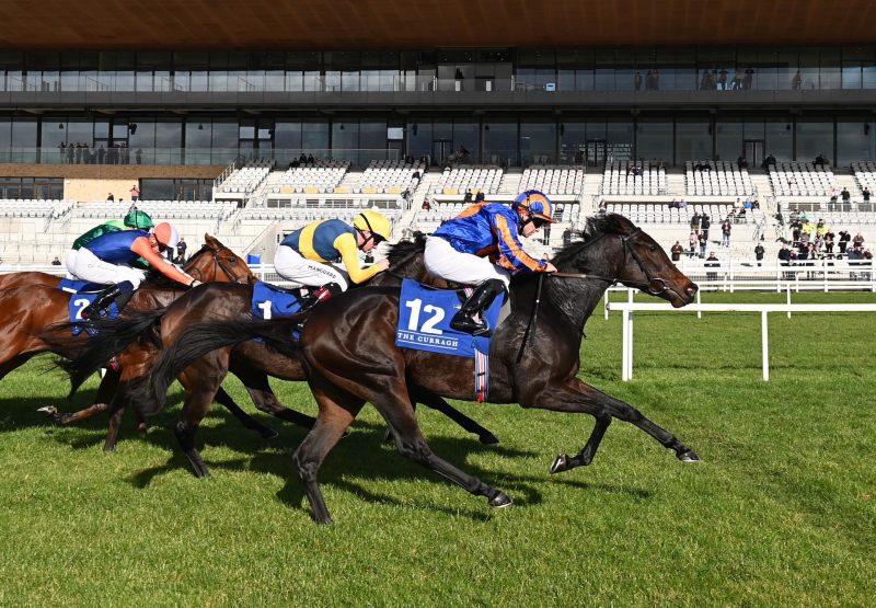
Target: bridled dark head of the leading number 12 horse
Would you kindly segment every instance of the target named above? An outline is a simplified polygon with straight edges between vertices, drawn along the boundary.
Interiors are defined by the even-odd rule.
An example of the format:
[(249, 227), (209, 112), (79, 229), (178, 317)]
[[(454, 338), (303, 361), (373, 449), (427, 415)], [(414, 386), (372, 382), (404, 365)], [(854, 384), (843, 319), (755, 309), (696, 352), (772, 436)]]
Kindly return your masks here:
[[(587, 220), (585, 240), (566, 248), (557, 264), (641, 289), (675, 308), (693, 301), (699, 287), (669, 260), (664, 249), (624, 216), (600, 214)], [(599, 242), (600, 246), (595, 246)]]

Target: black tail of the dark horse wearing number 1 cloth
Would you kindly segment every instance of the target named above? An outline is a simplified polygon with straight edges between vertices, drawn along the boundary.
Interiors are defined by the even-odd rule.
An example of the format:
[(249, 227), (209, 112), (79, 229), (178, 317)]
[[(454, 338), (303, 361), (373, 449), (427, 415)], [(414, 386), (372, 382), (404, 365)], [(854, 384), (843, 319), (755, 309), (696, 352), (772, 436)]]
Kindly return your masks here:
[(110, 359), (124, 351), (135, 340), (141, 340), (157, 348), (161, 347), (160, 320), (166, 307), (155, 310), (131, 311), (122, 319), (94, 319), (88, 322), (62, 323), (50, 328), (50, 331), (78, 325), (81, 329), (93, 328), (96, 334), (90, 336), (84, 344), (69, 358), (58, 363), (70, 377), (70, 397), (84, 382), (89, 376), (102, 367), (106, 367)]

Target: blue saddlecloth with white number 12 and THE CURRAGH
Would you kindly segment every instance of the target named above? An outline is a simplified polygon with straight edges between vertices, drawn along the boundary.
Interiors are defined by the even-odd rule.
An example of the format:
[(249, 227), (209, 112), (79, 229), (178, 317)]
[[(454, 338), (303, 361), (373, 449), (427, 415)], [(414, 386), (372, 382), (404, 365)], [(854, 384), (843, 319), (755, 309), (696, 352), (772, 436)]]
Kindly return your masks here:
[[(458, 357), (474, 357), (475, 351), (489, 353), (488, 337), (474, 337), (450, 329), (450, 320), (464, 299), (459, 291), (434, 289), (416, 280), (404, 279), (399, 300), (395, 345)], [(500, 309), (502, 298), (497, 298), (486, 312), (491, 328), (496, 326)]]

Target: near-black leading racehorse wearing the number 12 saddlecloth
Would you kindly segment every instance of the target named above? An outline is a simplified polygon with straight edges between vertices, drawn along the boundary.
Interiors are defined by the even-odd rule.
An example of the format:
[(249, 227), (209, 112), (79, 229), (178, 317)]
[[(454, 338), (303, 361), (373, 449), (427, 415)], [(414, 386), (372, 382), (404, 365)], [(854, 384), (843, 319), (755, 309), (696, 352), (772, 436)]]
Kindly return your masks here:
[[(696, 285), (669, 261), (654, 239), (614, 214), (588, 219), (584, 240), (564, 248), (553, 264), (560, 273), (578, 276), (528, 275), (516, 276), (511, 282), (511, 313), (492, 337), (487, 400), (596, 417), (584, 448), (574, 457), (558, 456), (551, 473), (590, 464), (612, 418), (635, 425), (673, 450), (681, 461), (700, 460), (693, 450), (636, 409), (577, 378), (584, 325), (610, 285), (621, 283), (638, 288), (675, 307), (690, 303)], [(541, 314), (534, 329), (530, 325), (532, 344), (518, 357), (518, 347), (529, 333), (537, 296)], [(510, 505), (511, 500), (504, 492), (436, 456), (423, 437), (411, 408), (411, 390), (468, 399), (474, 363), (396, 347), (399, 306), (397, 287), (348, 291), (313, 311), (300, 341), (292, 340), (288, 331), (293, 318), (194, 325), (165, 351), (163, 356), (172, 363), (162, 362), (157, 369), (173, 375), (212, 348), (252, 337), (302, 357), (319, 416), (293, 458), (319, 523), (331, 521), (316, 479), (320, 466), (366, 402), (384, 417), (403, 456), (471, 494), (485, 496), (493, 507)], [(149, 397), (148, 388), (138, 397)], [(150, 415), (149, 406), (155, 401), (150, 398), (138, 403), (145, 408), (141, 413)]]

